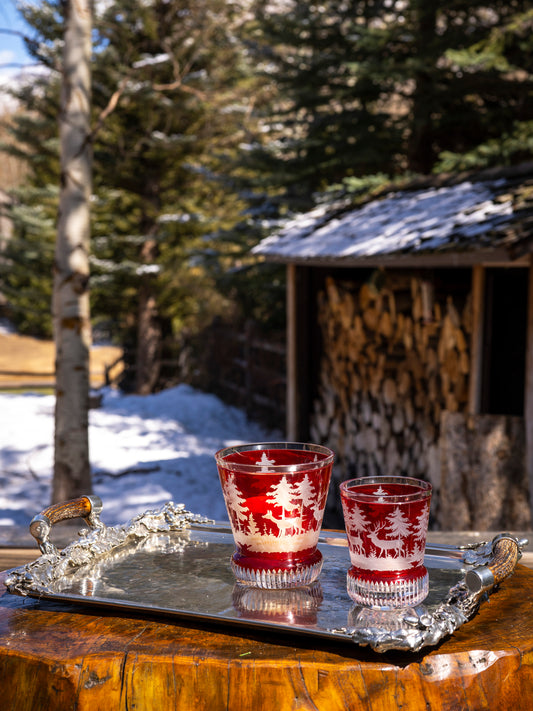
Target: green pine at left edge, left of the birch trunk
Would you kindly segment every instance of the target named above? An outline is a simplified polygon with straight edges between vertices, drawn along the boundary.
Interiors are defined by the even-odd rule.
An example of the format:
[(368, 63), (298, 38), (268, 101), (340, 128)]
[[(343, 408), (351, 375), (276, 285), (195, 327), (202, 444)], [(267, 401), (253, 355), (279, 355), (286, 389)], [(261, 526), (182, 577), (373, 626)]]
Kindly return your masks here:
[[(41, 22), (33, 6), (24, 10), (32, 22)], [(13, 319), (22, 333), (51, 338), (52, 278), (60, 168), (57, 116), (60, 95), (60, 52), (50, 60), (51, 45), (61, 47), (62, 25), (53, 29), (42, 18), (42, 46), (27, 42), (27, 50), (45, 71), (11, 87), (20, 108), (6, 129), (13, 140), (0, 146), (28, 166), (23, 184), (11, 191), (13, 235), (0, 261), (0, 289), (7, 297)]]

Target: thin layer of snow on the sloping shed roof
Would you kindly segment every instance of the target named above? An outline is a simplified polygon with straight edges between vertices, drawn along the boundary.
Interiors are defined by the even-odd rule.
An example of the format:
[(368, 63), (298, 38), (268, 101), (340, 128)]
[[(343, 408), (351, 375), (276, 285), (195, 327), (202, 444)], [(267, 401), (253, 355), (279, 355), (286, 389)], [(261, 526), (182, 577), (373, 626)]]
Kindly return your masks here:
[(253, 252), (276, 261), (358, 262), (494, 249), (509, 243), (507, 227), (515, 217), (505, 178), (465, 180), (389, 193), (355, 209), (320, 205), (285, 223)]

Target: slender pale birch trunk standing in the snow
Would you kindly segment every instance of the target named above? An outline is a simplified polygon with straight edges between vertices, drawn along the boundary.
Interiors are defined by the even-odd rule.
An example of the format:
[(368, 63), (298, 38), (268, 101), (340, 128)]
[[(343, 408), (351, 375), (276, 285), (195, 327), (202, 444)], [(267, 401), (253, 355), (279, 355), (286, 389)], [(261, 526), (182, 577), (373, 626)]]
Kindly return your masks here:
[(54, 264), (56, 409), (52, 502), (91, 493), (89, 200), (91, 0), (65, 0), (59, 136), (61, 193)]

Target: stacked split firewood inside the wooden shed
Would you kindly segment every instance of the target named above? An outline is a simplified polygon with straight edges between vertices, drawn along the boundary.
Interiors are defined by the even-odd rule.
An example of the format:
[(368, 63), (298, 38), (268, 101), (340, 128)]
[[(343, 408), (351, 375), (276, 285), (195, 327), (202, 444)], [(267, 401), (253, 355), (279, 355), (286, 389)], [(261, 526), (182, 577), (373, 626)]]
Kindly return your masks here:
[(468, 403), (470, 297), (437, 296), (417, 275), (383, 278), (379, 288), (328, 278), (319, 293), (311, 437), (336, 452), (337, 480), (403, 474), (438, 489), (441, 413)]

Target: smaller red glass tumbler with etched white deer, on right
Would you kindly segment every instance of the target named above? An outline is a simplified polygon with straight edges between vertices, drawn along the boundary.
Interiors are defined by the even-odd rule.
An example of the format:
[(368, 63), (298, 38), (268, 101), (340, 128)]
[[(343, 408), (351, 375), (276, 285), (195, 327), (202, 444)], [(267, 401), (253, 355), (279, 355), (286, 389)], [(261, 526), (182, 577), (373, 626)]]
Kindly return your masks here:
[(429, 589), (424, 551), (431, 484), (403, 476), (361, 477), (342, 482), (340, 493), (352, 600), (379, 608), (421, 603)]

